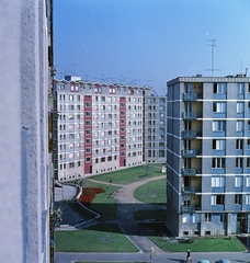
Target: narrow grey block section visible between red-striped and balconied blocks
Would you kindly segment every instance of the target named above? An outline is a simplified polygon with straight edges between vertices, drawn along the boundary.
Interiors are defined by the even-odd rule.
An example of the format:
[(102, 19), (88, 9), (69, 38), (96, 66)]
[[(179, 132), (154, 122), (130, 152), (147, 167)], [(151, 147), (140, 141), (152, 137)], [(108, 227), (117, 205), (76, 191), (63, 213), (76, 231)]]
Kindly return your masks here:
[(144, 161), (166, 163), (167, 96), (145, 96)]

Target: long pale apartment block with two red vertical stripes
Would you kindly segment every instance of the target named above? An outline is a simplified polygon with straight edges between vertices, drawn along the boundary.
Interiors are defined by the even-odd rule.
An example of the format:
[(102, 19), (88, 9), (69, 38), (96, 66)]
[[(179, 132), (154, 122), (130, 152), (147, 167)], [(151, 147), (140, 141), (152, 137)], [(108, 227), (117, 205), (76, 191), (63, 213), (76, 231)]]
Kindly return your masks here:
[(54, 82), (56, 178), (69, 181), (143, 163), (144, 98), (150, 88)]

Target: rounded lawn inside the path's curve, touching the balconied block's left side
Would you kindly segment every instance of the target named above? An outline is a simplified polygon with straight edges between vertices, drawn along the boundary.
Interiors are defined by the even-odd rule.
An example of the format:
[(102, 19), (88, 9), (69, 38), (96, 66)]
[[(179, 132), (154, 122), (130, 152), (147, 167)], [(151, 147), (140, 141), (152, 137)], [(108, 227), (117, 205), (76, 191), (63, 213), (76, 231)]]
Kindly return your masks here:
[(134, 192), (136, 199), (148, 203), (167, 205), (167, 186), (166, 179), (156, 180), (146, 184), (143, 184)]

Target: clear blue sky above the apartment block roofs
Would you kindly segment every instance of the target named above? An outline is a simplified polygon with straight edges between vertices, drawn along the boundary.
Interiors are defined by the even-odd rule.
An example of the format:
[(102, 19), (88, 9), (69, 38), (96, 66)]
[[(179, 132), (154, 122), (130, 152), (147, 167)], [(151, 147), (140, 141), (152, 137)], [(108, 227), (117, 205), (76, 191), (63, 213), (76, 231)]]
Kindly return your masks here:
[[(57, 79), (150, 85), (250, 70), (249, 0), (54, 0)], [(250, 72), (249, 72), (250, 76)]]

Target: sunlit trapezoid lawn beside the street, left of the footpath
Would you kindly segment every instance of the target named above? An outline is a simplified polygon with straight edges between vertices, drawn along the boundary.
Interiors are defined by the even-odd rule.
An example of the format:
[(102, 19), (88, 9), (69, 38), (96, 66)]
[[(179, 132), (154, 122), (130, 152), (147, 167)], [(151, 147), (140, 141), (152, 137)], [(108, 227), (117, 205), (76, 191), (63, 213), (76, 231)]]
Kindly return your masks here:
[(57, 252), (138, 252), (116, 224), (88, 229), (55, 231)]

